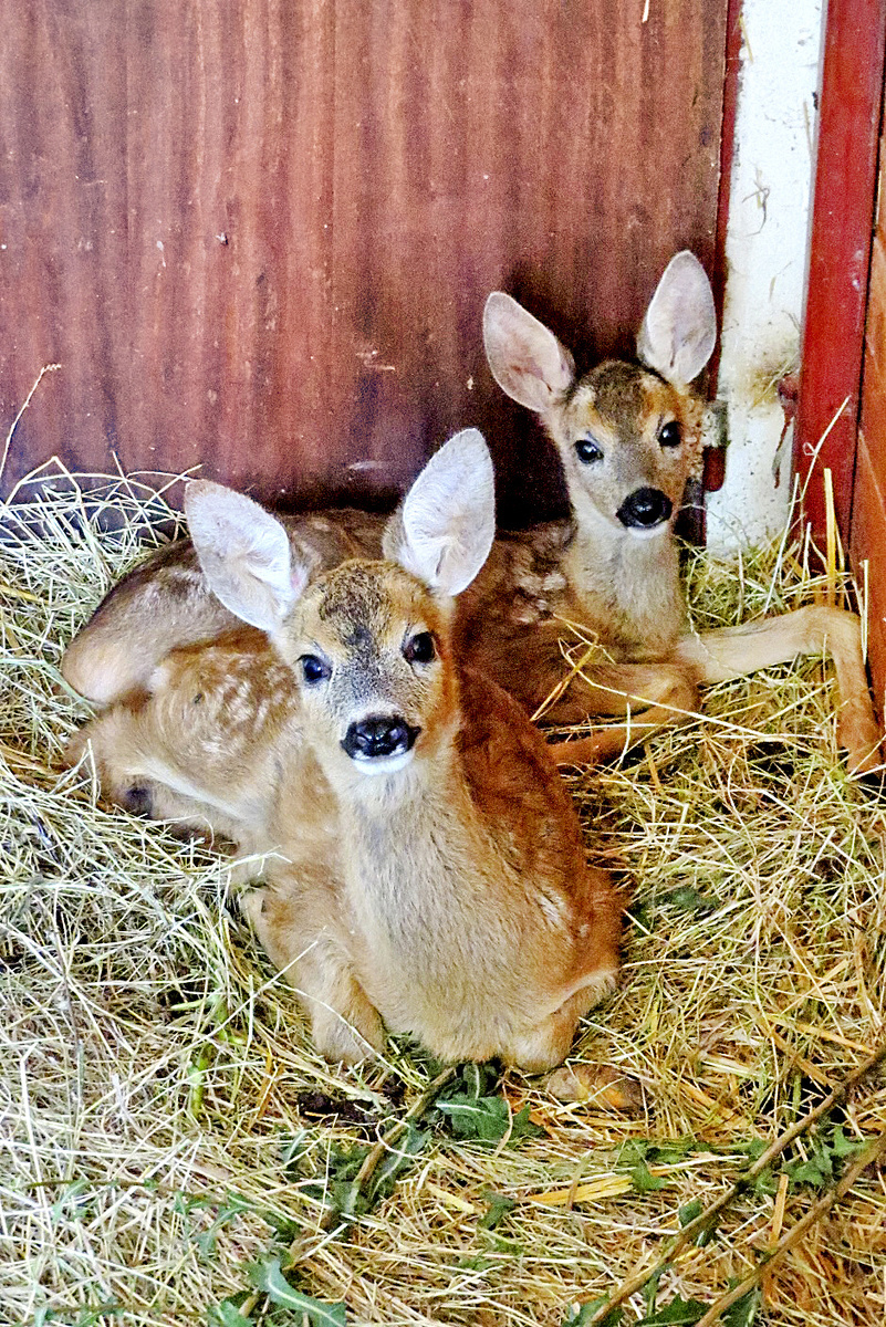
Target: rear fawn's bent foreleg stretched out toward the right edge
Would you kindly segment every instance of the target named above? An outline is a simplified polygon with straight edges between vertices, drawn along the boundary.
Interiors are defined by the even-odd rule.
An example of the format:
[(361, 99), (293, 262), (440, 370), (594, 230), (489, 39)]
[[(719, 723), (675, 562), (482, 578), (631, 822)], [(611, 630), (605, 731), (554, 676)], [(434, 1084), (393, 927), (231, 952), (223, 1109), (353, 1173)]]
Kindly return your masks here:
[(834, 661), (840, 690), (837, 739), (849, 752), (849, 768), (863, 774), (879, 764), (881, 731), (867, 686), (861, 622), (854, 613), (810, 605), (743, 626), (686, 636), (674, 660), (690, 665), (700, 683), (712, 683), (825, 650)]

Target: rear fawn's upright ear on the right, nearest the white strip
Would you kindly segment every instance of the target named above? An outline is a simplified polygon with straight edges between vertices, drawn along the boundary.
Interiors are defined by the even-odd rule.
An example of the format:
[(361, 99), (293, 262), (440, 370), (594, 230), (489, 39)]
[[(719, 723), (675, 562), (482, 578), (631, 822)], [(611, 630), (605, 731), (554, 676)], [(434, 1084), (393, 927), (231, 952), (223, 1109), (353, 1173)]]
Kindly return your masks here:
[(683, 249), (664, 268), (646, 309), (637, 353), (668, 382), (686, 386), (711, 358), (715, 341), (711, 283), (695, 253)]

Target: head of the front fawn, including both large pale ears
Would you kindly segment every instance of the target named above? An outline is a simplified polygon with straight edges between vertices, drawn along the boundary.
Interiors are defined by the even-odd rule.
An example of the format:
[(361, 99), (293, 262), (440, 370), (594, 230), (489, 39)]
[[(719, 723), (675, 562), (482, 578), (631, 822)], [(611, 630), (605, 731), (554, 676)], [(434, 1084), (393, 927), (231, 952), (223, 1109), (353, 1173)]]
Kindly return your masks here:
[(252, 499), (196, 482), (186, 511), (218, 597), (290, 667), (328, 774), (393, 774), (450, 731), (452, 596), (495, 535), (492, 462), (476, 430), (418, 476), (387, 524), (386, 561), (342, 563), (310, 585), (283, 525)]

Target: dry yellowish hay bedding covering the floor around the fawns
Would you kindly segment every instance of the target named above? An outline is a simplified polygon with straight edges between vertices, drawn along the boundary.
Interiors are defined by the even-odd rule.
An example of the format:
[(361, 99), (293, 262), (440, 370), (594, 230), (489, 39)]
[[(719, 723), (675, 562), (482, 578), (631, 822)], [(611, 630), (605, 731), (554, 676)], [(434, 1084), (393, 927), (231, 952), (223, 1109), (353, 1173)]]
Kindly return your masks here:
[[(57, 772), (86, 714), (60, 681), (64, 644), (170, 519), (135, 480), (94, 487), (88, 502), (88, 483), (25, 486), (0, 548), (0, 1318), (344, 1320), (320, 1299), (349, 1323), (588, 1322), (577, 1306), (651, 1265), (680, 1209), (724, 1193), (882, 1038), (886, 800), (845, 774), (821, 661), (711, 691), (706, 721), (573, 779), (592, 851), (633, 890), (623, 986), (573, 1060), (631, 1075), (645, 1104), (560, 1104), (512, 1074), (504, 1097), (485, 1079), (475, 1093), (499, 1111), (491, 1141), (463, 1137), (458, 1112), (422, 1108), (439, 1067), (414, 1050), (391, 1043), (387, 1064), (346, 1072), (314, 1056), (228, 904), (223, 856)], [(122, 529), (102, 533), (102, 502)], [(740, 575), (691, 571), (703, 625), (817, 589), (776, 552)], [(885, 1124), (873, 1074), (623, 1320), (653, 1303), (698, 1319), (680, 1302), (711, 1304), (757, 1267)], [(336, 1205), (353, 1204), (361, 1164), (342, 1231)], [(257, 1289), (249, 1267), (268, 1285), (275, 1258), (292, 1265), (277, 1291), (314, 1298), (281, 1307)], [(729, 1320), (755, 1311), (883, 1320), (875, 1165)]]

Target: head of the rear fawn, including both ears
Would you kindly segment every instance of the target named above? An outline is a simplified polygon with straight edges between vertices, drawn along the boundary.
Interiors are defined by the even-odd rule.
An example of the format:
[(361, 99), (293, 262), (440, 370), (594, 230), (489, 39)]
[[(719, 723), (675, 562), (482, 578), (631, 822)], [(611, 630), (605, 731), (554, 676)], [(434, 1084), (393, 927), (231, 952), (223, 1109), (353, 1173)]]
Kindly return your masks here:
[(638, 364), (606, 360), (582, 378), (566, 350), (509, 295), (483, 314), (492, 376), (535, 410), (560, 453), (580, 525), (638, 537), (671, 527), (702, 451), (702, 405), (690, 390), (711, 357), (716, 313), (695, 255), (668, 263), (637, 340)]

